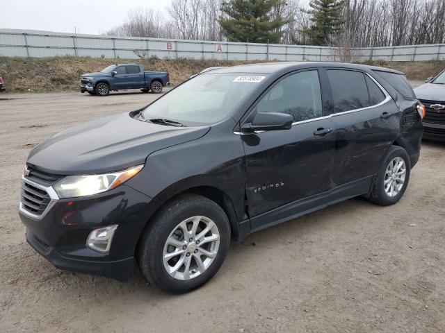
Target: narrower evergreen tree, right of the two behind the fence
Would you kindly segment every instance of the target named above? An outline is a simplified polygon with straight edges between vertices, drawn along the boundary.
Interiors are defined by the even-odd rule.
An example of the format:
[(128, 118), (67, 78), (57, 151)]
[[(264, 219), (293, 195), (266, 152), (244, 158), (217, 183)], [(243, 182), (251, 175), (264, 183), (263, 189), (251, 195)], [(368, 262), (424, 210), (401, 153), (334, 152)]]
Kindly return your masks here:
[(303, 29), (313, 45), (330, 44), (334, 35), (341, 33), (344, 23), (342, 13), (346, 4), (345, 0), (312, 0), (309, 2), (311, 9), (306, 10), (312, 15), (312, 26)]

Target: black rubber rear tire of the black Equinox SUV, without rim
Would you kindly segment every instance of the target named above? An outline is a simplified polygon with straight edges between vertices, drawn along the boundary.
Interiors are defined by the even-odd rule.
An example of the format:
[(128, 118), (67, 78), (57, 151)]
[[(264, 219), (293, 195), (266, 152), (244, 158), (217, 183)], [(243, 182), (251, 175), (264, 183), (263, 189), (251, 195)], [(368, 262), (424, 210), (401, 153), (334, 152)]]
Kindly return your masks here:
[[(390, 177), (388, 177), (386, 174), (387, 168), (389, 168), (389, 163), (394, 161), (396, 157), (400, 157), (403, 162), (405, 162), (405, 180), (403, 181), (403, 186), (401, 187), (400, 191), (398, 191), (398, 194), (390, 196), (387, 194), (387, 191), (385, 191), (385, 178), (386, 180), (390, 181)], [(374, 178), (371, 192), (369, 194), (369, 200), (372, 203), (382, 206), (394, 205), (394, 203), (397, 203), (398, 200), (401, 200), (407, 188), (408, 182), (410, 181), (410, 169), (410, 157), (405, 149), (399, 146), (391, 146), (387, 155), (382, 160), (382, 165), (380, 166), (377, 176)]]

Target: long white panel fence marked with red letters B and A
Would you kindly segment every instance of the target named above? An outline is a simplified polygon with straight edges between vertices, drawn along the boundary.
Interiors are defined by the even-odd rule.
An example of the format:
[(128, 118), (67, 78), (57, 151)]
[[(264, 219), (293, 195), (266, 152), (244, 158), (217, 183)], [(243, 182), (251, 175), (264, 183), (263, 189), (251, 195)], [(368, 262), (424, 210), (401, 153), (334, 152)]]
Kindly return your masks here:
[[(218, 60), (334, 61), (339, 51), (325, 46), (168, 40), (159, 38), (72, 35), (47, 31), (0, 29), (0, 56), (138, 59), (147, 57)], [(445, 44), (360, 48), (353, 61), (445, 60)]]

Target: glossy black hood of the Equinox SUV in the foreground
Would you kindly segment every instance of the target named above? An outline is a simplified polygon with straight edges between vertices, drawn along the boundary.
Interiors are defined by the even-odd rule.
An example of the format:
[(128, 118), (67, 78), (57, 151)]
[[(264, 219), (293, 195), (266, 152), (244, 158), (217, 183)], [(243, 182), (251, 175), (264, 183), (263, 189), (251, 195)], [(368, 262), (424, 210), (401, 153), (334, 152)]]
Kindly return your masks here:
[(154, 151), (198, 139), (209, 129), (145, 123), (118, 114), (51, 137), (29, 153), (27, 163), (59, 175), (118, 171), (143, 164)]

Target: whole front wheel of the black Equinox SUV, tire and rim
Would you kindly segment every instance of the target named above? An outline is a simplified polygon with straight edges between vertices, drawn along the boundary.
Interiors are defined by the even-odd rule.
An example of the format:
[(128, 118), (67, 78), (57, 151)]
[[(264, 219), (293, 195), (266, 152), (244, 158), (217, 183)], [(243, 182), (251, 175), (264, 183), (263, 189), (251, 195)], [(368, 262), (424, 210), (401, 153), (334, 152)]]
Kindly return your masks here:
[(179, 196), (161, 208), (143, 234), (140, 270), (169, 293), (186, 293), (216, 274), (229, 250), (224, 210), (208, 198)]

